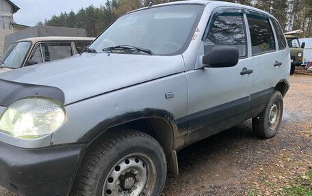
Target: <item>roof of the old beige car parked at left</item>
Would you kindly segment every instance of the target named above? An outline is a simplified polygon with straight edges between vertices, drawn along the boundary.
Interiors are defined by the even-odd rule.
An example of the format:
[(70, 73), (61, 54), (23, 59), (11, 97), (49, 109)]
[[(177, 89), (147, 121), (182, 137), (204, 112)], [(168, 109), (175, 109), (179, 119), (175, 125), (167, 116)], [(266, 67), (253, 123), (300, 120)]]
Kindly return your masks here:
[[(25, 38), (23, 40), (17, 40), (16, 42), (55, 42), (55, 41), (93, 41), (95, 38), (88, 37), (36, 37), (36, 38)], [(14, 42), (15, 43), (15, 42)]]

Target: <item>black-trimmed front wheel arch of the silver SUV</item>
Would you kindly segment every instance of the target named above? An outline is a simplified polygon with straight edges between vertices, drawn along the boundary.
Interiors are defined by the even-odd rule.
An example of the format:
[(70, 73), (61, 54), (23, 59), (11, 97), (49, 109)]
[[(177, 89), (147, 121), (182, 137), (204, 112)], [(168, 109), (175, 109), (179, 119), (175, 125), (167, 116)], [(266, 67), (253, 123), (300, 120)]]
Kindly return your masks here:
[[(107, 141), (120, 131), (129, 129), (138, 130), (154, 137), (166, 154), (168, 170), (177, 171), (172, 173), (178, 173), (178, 165), (170, 164), (177, 162), (175, 161), (177, 160), (177, 154), (172, 149), (174, 148), (174, 136), (177, 135), (177, 126), (174, 124), (174, 115), (161, 109), (132, 111), (103, 120), (79, 139), (79, 143), (87, 143), (83, 154), (81, 154), (81, 162), (99, 143)], [(80, 167), (81, 162), (77, 169)]]

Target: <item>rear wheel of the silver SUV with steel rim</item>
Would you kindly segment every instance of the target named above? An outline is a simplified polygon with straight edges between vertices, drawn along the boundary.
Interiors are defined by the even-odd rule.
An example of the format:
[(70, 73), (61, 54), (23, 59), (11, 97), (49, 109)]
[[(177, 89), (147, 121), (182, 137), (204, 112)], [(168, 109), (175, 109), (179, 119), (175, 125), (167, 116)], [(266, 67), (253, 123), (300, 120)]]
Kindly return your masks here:
[[(276, 112), (275, 112), (276, 111)], [(283, 96), (281, 92), (274, 91), (265, 109), (252, 118), (252, 129), (259, 137), (274, 137), (283, 117)]]

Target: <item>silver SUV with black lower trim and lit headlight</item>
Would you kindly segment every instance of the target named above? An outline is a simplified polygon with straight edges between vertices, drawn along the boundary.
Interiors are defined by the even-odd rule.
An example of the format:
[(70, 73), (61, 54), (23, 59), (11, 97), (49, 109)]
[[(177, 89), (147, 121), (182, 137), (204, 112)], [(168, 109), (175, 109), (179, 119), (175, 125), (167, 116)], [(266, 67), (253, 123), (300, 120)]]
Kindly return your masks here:
[(177, 152), (252, 118), (281, 124), (277, 20), (220, 1), (120, 17), (86, 52), (0, 74), (0, 183), (21, 195), (160, 195)]

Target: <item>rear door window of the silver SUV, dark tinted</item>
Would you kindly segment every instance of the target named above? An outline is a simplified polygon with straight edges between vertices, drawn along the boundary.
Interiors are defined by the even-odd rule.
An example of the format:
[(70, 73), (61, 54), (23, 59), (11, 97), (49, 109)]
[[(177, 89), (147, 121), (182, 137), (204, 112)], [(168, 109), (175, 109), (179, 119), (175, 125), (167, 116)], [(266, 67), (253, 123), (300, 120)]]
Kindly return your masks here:
[(252, 55), (275, 51), (273, 31), (269, 18), (260, 14), (246, 14), (252, 45)]

